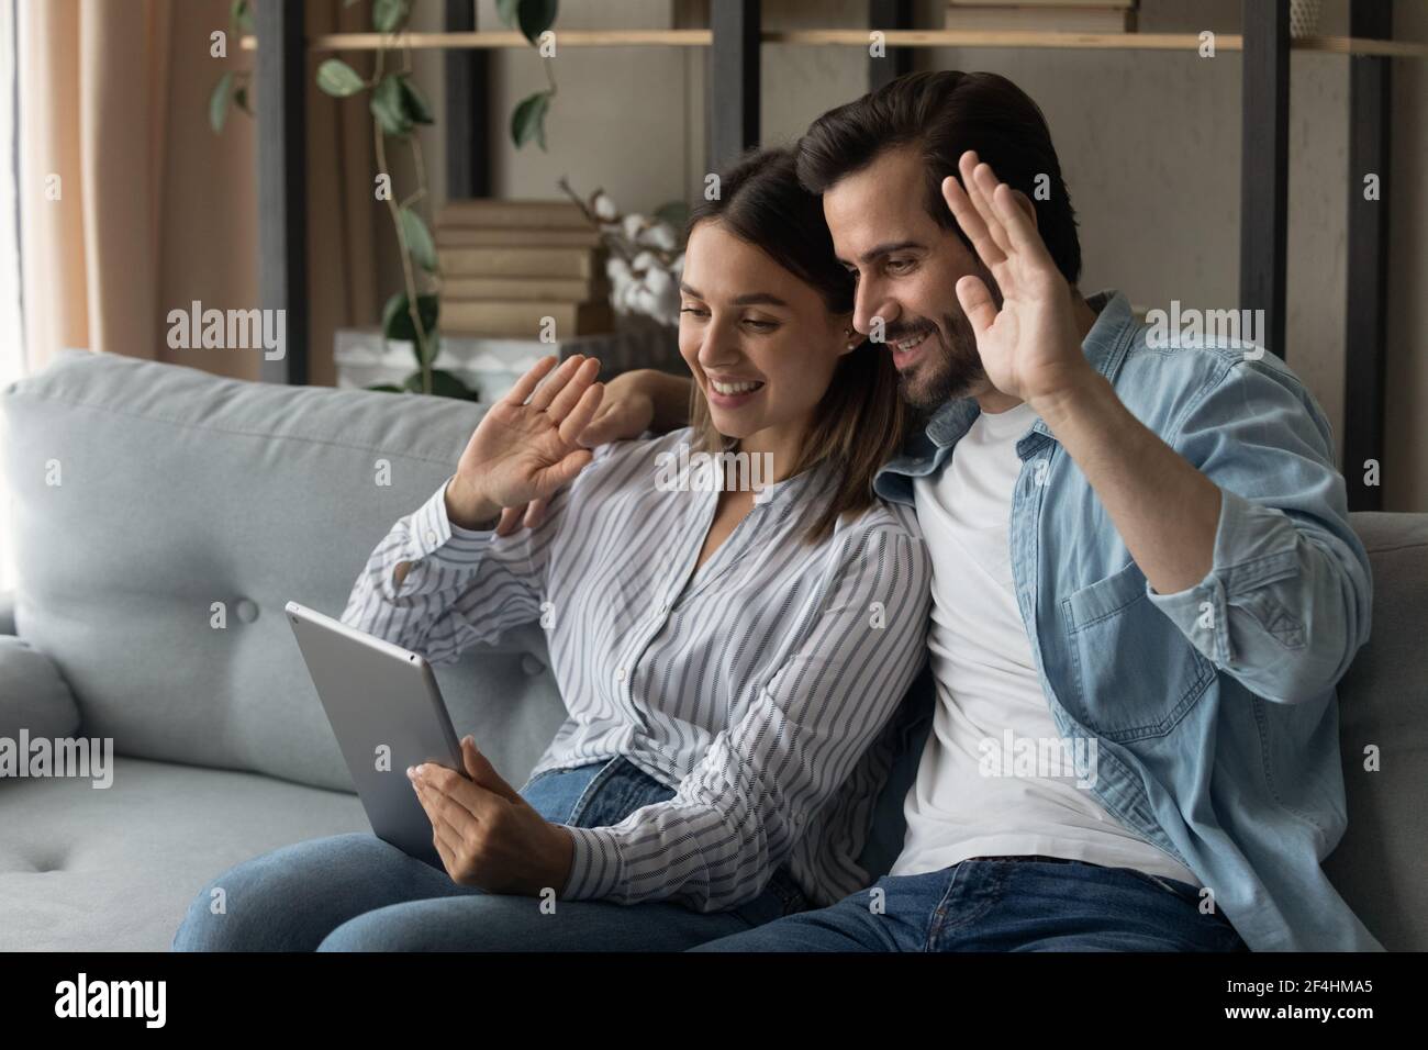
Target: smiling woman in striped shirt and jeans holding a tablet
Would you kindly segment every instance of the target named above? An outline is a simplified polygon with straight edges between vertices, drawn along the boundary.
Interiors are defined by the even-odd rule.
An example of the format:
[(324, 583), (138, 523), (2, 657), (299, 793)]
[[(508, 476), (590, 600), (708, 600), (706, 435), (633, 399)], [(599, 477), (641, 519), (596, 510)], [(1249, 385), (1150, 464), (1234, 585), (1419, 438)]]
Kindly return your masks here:
[[(300, 843), (221, 873), (260, 906), (216, 919), (200, 893), (177, 950), (673, 950), (867, 883), (930, 601), (915, 521), (871, 490), (895, 379), (847, 334), (851, 279), (790, 154), (721, 184), (680, 324), (714, 447), (690, 429), (587, 447), (598, 361), (545, 357), (343, 611), (433, 664), (540, 623), (568, 717), (527, 784), (468, 740), (463, 769), (411, 773), (444, 870), (371, 836)], [(740, 456), (768, 483), (703, 484), (724, 453), (735, 484)], [(537, 524), (494, 529), (536, 500)]]

